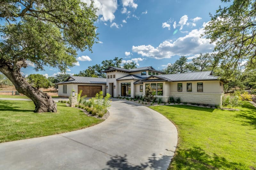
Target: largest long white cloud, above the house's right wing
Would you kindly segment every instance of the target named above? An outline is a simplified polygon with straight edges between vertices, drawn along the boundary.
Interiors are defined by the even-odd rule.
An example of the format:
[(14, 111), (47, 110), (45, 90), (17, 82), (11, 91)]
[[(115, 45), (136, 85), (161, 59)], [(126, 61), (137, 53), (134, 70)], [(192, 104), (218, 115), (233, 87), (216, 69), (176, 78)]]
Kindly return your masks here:
[(173, 43), (164, 41), (156, 48), (151, 45), (132, 46), (132, 51), (156, 59), (171, 58), (174, 55), (196, 55), (212, 52), (215, 44), (210, 44), (210, 40), (204, 37), (200, 38), (201, 34), (204, 34), (204, 28), (194, 29)]

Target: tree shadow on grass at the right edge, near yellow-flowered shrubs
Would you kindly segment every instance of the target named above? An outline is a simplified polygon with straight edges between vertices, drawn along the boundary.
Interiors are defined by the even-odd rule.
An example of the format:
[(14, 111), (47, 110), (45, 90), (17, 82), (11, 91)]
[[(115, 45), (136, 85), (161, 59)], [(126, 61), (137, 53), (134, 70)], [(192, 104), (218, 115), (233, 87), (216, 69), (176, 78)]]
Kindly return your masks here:
[[(242, 108), (245, 109), (237, 112), (235, 117), (244, 119), (244, 121), (242, 121), (244, 122), (242, 125), (253, 126), (256, 128), (256, 107), (249, 102), (243, 102)], [(238, 121), (241, 122), (241, 120)]]

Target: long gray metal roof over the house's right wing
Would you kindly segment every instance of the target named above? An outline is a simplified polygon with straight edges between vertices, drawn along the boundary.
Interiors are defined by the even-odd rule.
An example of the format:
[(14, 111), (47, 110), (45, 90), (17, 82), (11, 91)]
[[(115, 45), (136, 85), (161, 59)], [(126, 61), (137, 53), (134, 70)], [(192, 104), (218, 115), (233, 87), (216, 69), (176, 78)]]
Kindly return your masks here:
[[(159, 79), (149, 79), (151, 77), (156, 77)], [(141, 82), (149, 81), (200, 81), (200, 80), (219, 80), (219, 77), (212, 76), (212, 71), (199, 71), (192, 73), (179, 73), (179, 74), (164, 74), (157, 76), (150, 76), (141, 80)]]

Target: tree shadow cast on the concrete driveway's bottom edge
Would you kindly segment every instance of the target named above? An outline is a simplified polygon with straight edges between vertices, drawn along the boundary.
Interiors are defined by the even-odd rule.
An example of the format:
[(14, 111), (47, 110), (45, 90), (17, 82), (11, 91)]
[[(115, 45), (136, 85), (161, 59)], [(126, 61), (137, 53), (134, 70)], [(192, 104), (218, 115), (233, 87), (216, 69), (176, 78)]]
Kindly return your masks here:
[(133, 165), (132, 163), (129, 163), (129, 160), (127, 159), (126, 154), (124, 156), (116, 155), (115, 157), (112, 157), (107, 162), (107, 166), (109, 168), (104, 168), (103, 170), (110, 170), (110, 169), (118, 169), (118, 170), (132, 169), (132, 170), (137, 170), (137, 169), (145, 169), (145, 168), (166, 169), (169, 166), (171, 159), (172, 159), (172, 156), (162, 155), (160, 158), (158, 158), (158, 157), (156, 157), (156, 154), (153, 153), (151, 155), (151, 157), (148, 158), (147, 162), (140, 163), (140, 165)]

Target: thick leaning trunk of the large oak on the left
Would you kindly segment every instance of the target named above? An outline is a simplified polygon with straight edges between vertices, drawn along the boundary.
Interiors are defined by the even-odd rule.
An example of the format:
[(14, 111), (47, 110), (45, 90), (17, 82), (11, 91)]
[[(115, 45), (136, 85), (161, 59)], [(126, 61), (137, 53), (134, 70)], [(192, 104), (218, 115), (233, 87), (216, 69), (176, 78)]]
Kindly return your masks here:
[(57, 105), (47, 93), (40, 92), (32, 87), (20, 74), (20, 69), (12, 69), (8, 66), (0, 67), (0, 71), (12, 82), (16, 90), (25, 94), (35, 104), (34, 112), (57, 112)]

